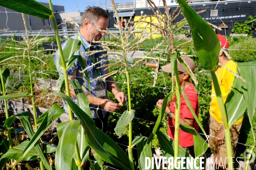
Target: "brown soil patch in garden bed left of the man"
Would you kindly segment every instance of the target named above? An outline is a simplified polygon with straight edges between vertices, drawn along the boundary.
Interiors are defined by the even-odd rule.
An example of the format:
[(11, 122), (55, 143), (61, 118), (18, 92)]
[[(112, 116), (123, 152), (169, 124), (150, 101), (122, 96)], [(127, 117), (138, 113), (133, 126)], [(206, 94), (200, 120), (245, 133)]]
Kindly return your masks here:
[[(9, 91), (8, 94), (17, 94), (16, 91)], [(62, 99), (59, 96), (53, 96), (49, 95), (51, 93), (55, 93), (55, 91), (52, 91), (50, 89), (34, 89), (33, 90), (34, 96), (35, 96), (35, 107), (41, 107), (41, 108), (51, 108), (52, 105), (57, 103), (59, 106), (62, 105)], [(48, 99), (49, 95), (49, 99)], [(48, 99), (48, 101), (47, 101)], [(21, 102), (20, 98), (12, 98), (11, 100), (15, 102)], [(32, 105), (32, 98), (31, 97), (25, 97), (24, 103)]]

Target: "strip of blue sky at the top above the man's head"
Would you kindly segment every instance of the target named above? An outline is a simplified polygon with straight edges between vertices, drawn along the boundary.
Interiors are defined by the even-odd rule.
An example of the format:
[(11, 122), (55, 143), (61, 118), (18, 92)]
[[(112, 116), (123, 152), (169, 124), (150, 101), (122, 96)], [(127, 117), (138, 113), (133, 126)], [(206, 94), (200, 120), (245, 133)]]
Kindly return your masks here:
[[(48, 0), (37, 0), (38, 2), (43, 2), (43, 3), (49, 3)], [(79, 6), (80, 11), (84, 11), (84, 8), (87, 6), (99, 6), (99, 1), (100, 1), (100, 6), (102, 8), (105, 8), (105, 2), (109, 5), (111, 5), (110, 0), (52, 0), (53, 5), (60, 5), (64, 6), (65, 11), (71, 12), (71, 11), (77, 11), (77, 6)], [(133, 0), (115, 0), (115, 3), (118, 2), (131, 2)], [(77, 5), (76, 5), (77, 4)]]

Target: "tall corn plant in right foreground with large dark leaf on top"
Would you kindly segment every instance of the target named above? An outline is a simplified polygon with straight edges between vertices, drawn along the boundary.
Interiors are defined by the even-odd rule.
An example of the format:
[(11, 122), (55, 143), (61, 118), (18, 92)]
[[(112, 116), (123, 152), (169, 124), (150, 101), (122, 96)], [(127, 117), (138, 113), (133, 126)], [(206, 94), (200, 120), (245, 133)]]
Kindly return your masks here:
[[(228, 100), (224, 105), (218, 79), (215, 75), (215, 68), (219, 64), (218, 55), (219, 51), (221, 50), (218, 37), (213, 29), (198, 14), (196, 14), (195, 11), (184, 0), (177, 0), (177, 2), (180, 4), (183, 14), (191, 28), (196, 54), (204, 69), (209, 70), (211, 73), (218, 105), (221, 110), (222, 122), (224, 124), (228, 162), (230, 167), (233, 168), (233, 154), (229, 128), (233, 125), (233, 123), (240, 119), (240, 117), (244, 114), (246, 107), (250, 109), (249, 117), (252, 119), (256, 105), (250, 102), (250, 99), (252, 99), (253, 95), (255, 95), (256, 89), (253, 88), (255, 87), (255, 80), (250, 77), (248, 73), (253, 71), (255, 63), (241, 63), (238, 65), (239, 76), (235, 74), (236, 78), (233, 82), (232, 91), (228, 95)], [(198, 25), (200, 25), (200, 27)], [(248, 78), (247, 83), (245, 83), (242, 77), (246, 77), (246, 79)], [(251, 91), (248, 92), (249, 90)]]

